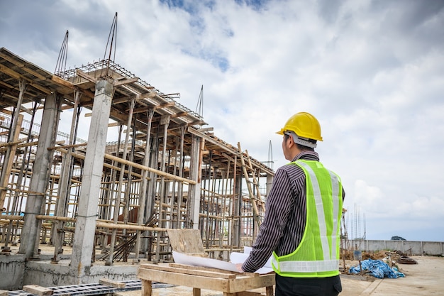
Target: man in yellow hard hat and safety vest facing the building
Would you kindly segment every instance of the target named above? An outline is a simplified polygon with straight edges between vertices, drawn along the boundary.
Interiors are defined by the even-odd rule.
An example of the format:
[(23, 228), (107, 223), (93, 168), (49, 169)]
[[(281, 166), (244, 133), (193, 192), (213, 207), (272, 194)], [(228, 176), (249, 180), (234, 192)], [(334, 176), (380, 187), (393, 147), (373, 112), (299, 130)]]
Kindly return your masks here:
[(291, 163), (274, 176), (265, 219), (248, 259), (238, 268), (254, 272), (273, 254), (276, 295), (338, 295), (340, 178), (319, 163), (313, 148), (321, 126), (309, 113), (294, 114), (284, 128), (282, 152)]

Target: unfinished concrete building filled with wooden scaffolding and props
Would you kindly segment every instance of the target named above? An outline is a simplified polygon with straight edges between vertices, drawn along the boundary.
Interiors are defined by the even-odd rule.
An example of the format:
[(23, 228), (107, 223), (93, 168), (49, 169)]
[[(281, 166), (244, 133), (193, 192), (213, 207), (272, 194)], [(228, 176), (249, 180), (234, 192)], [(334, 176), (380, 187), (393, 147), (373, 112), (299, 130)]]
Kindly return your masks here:
[(135, 279), (172, 261), (167, 229), (211, 258), (250, 245), (274, 172), (177, 96), (113, 60), (51, 73), (0, 48), (0, 289)]

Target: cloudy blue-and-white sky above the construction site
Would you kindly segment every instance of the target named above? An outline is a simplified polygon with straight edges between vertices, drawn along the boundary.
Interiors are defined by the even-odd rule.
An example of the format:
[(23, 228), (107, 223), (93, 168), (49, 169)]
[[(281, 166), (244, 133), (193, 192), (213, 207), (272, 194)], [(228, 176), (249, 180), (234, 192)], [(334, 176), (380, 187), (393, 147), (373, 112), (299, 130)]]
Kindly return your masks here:
[(203, 85), (205, 121), (257, 160), (272, 141), (286, 164), (274, 132), (316, 116), (349, 232), (444, 241), (443, 0), (0, 0), (0, 47), (53, 72), (68, 30), (67, 65), (97, 61), (116, 12), (115, 61), (192, 110)]

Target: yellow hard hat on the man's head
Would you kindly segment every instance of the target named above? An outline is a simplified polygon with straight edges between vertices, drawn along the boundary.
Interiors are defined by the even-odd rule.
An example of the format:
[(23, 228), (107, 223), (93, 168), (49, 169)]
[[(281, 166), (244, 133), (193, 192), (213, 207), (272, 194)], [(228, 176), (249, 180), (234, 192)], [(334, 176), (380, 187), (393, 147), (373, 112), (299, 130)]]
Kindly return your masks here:
[(318, 119), (307, 112), (294, 114), (289, 120), (287, 120), (284, 127), (276, 133), (283, 135), (286, 131), (293, 131), (301, 138), (322, 141), (321, 125), (319, 124)]

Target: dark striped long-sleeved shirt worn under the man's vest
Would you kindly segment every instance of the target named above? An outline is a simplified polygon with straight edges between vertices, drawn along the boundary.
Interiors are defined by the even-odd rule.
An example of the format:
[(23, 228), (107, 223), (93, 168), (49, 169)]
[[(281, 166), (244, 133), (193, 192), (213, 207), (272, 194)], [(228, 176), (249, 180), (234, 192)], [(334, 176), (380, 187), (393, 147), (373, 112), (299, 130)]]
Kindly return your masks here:
[[(293, 161), (298, 159), (319, 161), (319, 156), (314, 151), (304, 150)], [(299, 165), (287, 164), (277, 169), (266, 209), (250, 256), (242, 265), (245, 272), (261, 268), (273, 251), (277, 256), (284, 256), (301, 243), (306, 223), (306, 184), (304, 170)]]

